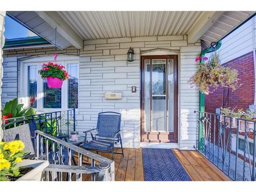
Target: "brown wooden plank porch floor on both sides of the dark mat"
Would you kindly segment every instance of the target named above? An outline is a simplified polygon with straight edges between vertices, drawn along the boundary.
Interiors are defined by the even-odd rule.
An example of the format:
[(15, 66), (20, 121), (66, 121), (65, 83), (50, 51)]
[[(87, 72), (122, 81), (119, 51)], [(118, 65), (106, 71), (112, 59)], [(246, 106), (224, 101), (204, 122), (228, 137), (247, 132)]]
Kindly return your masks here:
[[(117, 152), (121, 152), (121, 149), (118, 148)], [(194, 181), (230, 180), (229, 177), (198, 152), (180, 150), (173, 150), (173, 152)], [(108, 153), (99, 153), (99, 155), (111, 158), (111, 154)], [(114, 161), (115, 181), (144, 181), (141, 148), (124, 148), (124, 157), (115, 154)], [(91, 181), (91, 175), (82, 175), (82, 180)]]

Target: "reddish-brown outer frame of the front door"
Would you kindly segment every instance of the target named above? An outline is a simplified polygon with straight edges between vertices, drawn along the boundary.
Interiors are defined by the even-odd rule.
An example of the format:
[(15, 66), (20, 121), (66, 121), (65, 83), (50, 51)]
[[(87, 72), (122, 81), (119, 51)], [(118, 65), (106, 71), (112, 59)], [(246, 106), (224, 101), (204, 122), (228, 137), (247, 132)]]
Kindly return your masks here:
[[(179, 68), (178, 68), (178, 55), (141, 55), (140, 65), (140, 141), (143, 142), (145, 134), (145, 120), (144, 120), (144, 70), (145, 59), (173, 59), (174, 60), (174, 139), (170, 140), (170, 143), (178, 143), (178, 94), (179, 94)], [(167, 61), (168, 63), (168, 61)], [(168, 65), (166, 64), (166, 71)], [(167, 75), (167, 73), (166, 73)], [(166, 79), (167, 80), (167, 79)], [(168, 93), (168, 86), (166, 86), (166, 93)], [(152, 94), (152, 93), (151, 93)], [(167, 97), (166, 97), (167, 98)], [(168, 99), (166, 99), (167, 102)], [(166, 106), (166, 112), (168, 112), (168, 106)], [(166, 113), (167, 114), (167, 113)], [(168, 129), (168, 127), (167, 127)], [(156, 132), (157, 133), (157, 132)]]

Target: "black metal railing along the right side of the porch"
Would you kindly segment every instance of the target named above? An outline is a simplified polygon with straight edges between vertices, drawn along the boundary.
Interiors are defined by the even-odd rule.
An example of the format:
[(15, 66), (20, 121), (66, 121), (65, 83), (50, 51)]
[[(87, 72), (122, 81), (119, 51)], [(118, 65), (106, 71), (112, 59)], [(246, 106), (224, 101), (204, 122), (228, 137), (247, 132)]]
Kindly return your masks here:
[(256, 121), (195, 111), (196, 150), (235, 181), (255, 181)]

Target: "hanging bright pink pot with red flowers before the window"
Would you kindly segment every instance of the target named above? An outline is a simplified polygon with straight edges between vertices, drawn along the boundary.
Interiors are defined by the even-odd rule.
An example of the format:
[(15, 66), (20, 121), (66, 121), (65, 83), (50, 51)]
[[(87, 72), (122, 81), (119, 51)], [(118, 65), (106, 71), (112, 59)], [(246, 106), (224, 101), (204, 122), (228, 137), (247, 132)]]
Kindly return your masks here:
[[(54, 61), (56, 63), (56, 57)], [(69, 78), (64, 66), (54, 64), (53, 62), (44, 63), (42, 69), (38, 71), (42, 79), (47, 79), (48, 87), (60, 89), (64, 80)]]

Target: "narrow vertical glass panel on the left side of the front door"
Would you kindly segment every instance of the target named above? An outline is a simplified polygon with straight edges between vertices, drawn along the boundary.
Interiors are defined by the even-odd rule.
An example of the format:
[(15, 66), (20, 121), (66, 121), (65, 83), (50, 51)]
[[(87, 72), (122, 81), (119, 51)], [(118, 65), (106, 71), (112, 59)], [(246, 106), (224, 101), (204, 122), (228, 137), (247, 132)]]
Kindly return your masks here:
[(145, 60), (145, 93), (144, 93), (144, 115), (145, 115), (145, 131), (150, 131), (150, 60)]

